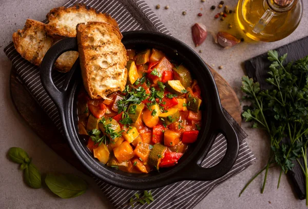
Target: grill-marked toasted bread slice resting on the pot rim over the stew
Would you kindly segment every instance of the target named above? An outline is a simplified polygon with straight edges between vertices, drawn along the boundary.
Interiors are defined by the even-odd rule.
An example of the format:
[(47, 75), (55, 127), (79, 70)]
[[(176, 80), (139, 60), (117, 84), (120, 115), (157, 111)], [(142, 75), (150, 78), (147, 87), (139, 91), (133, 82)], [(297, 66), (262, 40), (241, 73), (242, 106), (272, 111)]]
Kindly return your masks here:
[(91, 98), (106, 98), (126, 85), (128, 57), (122, 34), (110, 24), (78, 24), (77, 41), (82, 78)]

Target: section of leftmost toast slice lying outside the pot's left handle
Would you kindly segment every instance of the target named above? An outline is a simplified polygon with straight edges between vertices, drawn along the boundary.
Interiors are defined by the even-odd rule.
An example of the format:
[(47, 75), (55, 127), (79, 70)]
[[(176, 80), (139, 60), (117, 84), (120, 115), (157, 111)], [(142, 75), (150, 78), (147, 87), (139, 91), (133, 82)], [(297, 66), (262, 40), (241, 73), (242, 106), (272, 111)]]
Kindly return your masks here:
[(23, 30), (13, 33), (13, 43), (18, 53), (36, 66), (40, 66), (53, 39), (47, 36), (45, 24), (27, 19)]

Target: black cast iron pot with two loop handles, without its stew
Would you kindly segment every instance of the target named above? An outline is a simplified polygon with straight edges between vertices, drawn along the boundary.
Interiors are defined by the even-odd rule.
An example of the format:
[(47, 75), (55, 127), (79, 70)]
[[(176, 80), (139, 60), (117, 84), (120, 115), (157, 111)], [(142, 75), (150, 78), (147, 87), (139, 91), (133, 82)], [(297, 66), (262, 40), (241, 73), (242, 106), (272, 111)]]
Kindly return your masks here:
[[(87, 170), (103, 181), (131, 190), (150, 190), (182, 180), (208, 181), (224, 176), (233, 166), (239, 150), (238, 137), (225, 118), (213, 76), (199, 55), (180, 40), (157, 32), (131, 31), (123, 33), (123, 44), (127, 49), (156, 48), (169, 58), (183, 63), (198, 80), (202, 91), (204, 111), (203, 124), (198, 139), (172, 168), (160, 169), (149, 174), (130, 174), (114, 170), (93, 157), (85, 140), (78, 133), (77, 95), (82, 85), (79, 59), (67, 74), (61, 89), (55, 87), (52, 66), (62, 53), (78, 51), (76, 38), (58, 41), (46, 53), (41, 65), (41, 80), (59, 110), (64, 135), (71, 150)], [(200, 163), (208, 153), (218, 133), (227, 140), (227, 151), (223, 159), (211, 168), (202, 168)]]

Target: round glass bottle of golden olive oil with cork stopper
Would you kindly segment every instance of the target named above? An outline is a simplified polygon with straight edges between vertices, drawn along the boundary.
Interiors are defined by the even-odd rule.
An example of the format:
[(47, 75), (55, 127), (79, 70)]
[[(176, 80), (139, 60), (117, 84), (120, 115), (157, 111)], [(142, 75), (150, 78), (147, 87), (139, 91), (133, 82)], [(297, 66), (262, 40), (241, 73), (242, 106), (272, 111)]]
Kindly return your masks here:
[(302, 13), (302, 0), (240, 0), (236, 18), (249, 38), (276, 41), (297, 28)]

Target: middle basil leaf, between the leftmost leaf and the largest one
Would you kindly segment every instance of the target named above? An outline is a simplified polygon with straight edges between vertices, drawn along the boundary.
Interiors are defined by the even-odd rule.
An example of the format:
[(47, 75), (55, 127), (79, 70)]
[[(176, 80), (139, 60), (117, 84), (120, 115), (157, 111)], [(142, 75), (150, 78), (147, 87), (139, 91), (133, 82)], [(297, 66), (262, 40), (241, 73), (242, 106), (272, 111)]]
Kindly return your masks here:
[(25, 167), (24, 179), (26, 183), (34, 189), (42, 187), (41, 173), (32, 163), (29, 163), (28, 166)]

